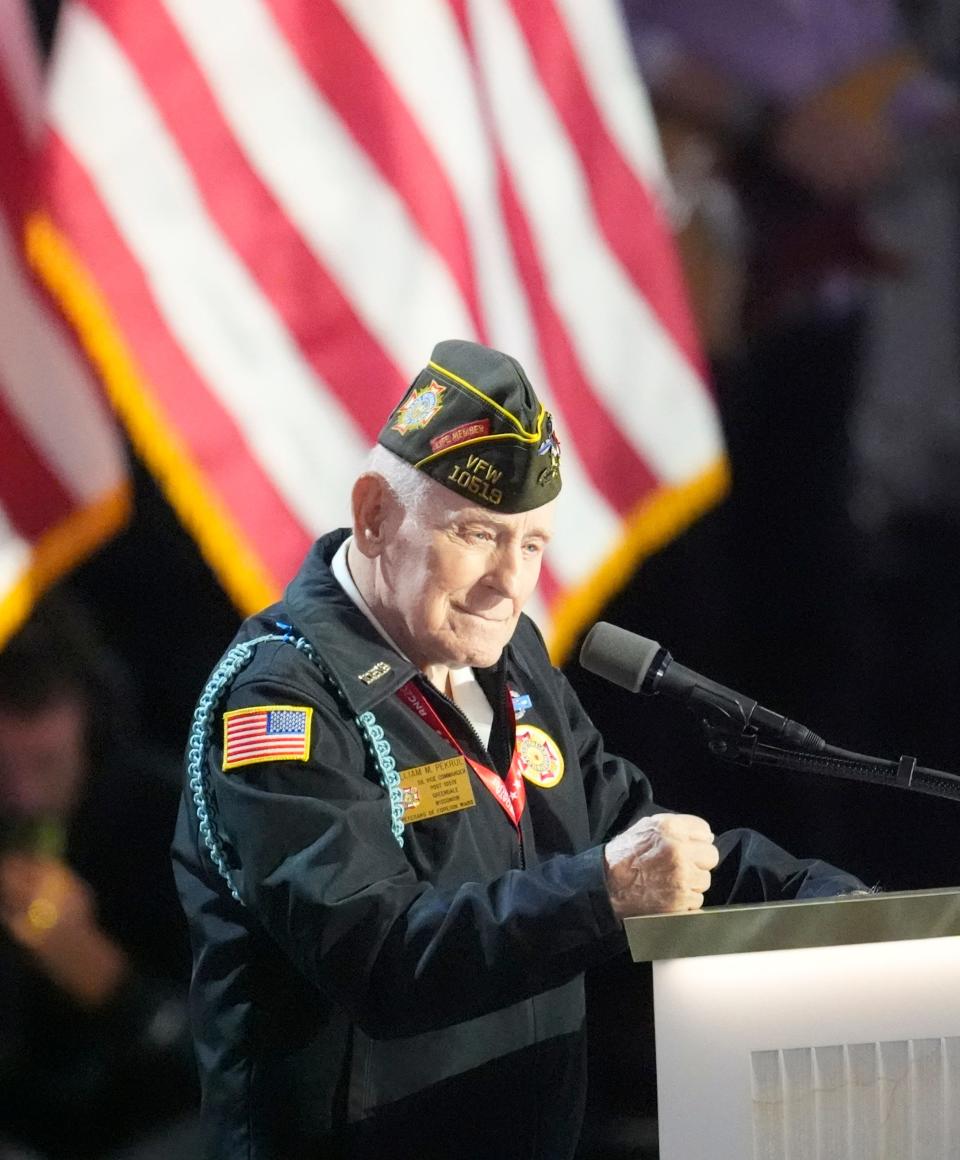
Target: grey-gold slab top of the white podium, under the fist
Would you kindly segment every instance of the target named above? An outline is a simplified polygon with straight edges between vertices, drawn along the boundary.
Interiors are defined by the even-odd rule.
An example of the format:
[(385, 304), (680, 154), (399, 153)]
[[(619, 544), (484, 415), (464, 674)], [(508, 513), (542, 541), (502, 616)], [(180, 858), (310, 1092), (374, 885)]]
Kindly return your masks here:
[(626, 919), (635, 963), (960, 935), (960, 889), (838, 894)]

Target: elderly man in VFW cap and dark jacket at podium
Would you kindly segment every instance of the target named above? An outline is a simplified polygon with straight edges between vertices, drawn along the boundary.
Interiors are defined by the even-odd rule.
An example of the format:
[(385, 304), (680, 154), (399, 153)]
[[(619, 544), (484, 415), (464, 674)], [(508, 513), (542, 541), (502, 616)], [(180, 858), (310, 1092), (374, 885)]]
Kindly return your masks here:
[(209, 1154), (570, 1157), (582, 972), (624, 916), (701, 906), (718, 849), (604, 753), (522, 615), (560, 450), (521, 367), (439, 343), (379, 443), (352, 535), (196, 716), (174, 857)]

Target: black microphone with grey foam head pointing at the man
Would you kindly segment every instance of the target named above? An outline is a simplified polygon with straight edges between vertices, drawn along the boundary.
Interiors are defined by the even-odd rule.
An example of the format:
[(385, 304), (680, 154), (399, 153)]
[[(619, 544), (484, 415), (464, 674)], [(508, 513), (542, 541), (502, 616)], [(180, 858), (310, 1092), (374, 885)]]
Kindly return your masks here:
[(750, 697), (678, 665), (656, 640), (627, 632), (599, 621), (587, 633), (580, 664), (597, 676), (631, 693), (657, 694), (682, 701), (694, 712), (708, 716), (714, 727), (733, 725), (740, 731), (763, 730), (784, 745), (819, 753), (827, 742), (805, 725), (771, 712)]

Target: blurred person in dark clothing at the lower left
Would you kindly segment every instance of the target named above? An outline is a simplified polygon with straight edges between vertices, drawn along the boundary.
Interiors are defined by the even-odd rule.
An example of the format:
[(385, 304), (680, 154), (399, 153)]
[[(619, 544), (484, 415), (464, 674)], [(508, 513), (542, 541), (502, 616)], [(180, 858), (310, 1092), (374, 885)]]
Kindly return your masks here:
[(49, 597), (0, 651), (0, 1136), (44, 1155), (103, 1157), (194, 1108), (175, 776)]

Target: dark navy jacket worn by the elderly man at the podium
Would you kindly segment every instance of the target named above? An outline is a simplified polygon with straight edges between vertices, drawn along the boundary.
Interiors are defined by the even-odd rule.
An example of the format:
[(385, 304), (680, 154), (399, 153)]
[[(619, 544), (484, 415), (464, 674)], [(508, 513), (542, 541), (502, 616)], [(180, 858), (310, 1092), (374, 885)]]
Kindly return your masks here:
[[(489, 753), (465, 718), (377, 635), (329, 571), (325, 537), (282, 604), (238, 639), (291, 624), (334, 688), (289, 643), (256, 647), (221, 711), (313, 710), (310, 756), (221, 771), (209, 752), (231, 897), (184, 795), (174, 862), (195, 952), (191, 1006), (209, 1155), (230, 1160), (410, 1157), (561, 1160), (583, 1102), (583, 986), (624, 948), (602, 843), (642, 813), (650, 786), (603, 742), (540, 636), (521, 619), (478, 674), (496, 712)], [(390, 672), (364, 683), (377, 666)], [(372, 712), (399, 770), (456, 751), (400, 697), (415, 679), (463, 749), (506, 771), (508, 690), (524, 724), (565, 757), (551, 788), (526, 783), (519, 833), (474, 780), (474, 805), (391, 831), (390, 799), (356, 723)], [(859, 886), (758, 835), (729, 882), (759, 894)], [(725, 892), (726, 893), (726, 892)], [(751, 891), (754, 897), (757, 891)], [(726, 898), (723, 899), (726, 900)]]

